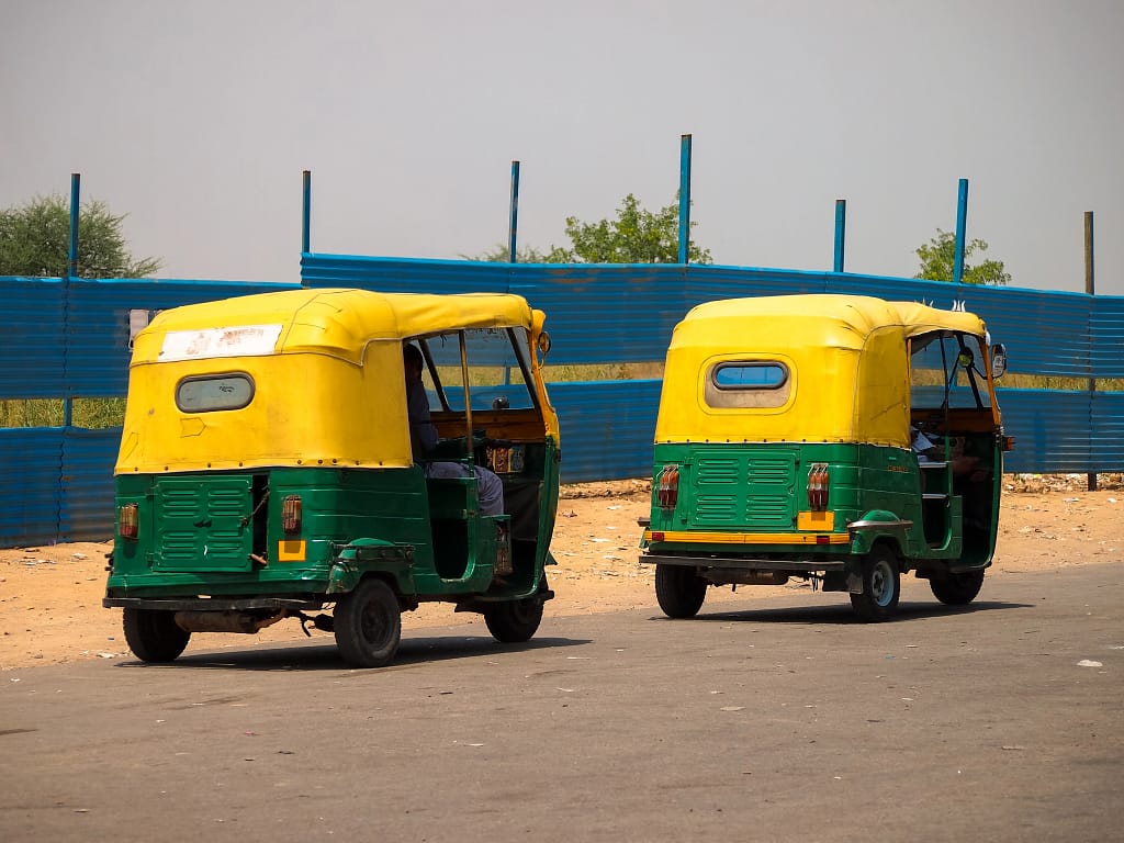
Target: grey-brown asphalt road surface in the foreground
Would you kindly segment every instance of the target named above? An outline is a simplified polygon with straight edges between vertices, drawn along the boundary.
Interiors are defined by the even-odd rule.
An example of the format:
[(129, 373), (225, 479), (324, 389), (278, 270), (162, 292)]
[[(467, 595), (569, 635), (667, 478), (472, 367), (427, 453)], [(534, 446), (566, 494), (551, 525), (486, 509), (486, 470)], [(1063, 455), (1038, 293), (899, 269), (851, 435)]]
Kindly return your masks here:
[(7, 671), (0, 840), (1120, 840), (1122, 573)]

